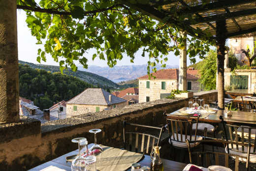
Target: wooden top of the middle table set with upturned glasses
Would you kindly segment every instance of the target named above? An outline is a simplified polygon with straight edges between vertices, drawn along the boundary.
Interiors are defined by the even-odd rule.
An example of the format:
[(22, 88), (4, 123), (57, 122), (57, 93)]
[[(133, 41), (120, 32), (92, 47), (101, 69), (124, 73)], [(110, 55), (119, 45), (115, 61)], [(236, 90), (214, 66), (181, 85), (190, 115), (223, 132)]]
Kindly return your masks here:
[[(177, 111), (167, 114), (167, 118), (168, 115), (180, 115), (181, 111), (187, 110), (189, 111), (188, 107), (183, 107)], [(206, 113), (206, 111), (201, 112), (203, 114), (199, 117), (200, 122), (221, 123), (222, 120), (220, 119), (220, 116), (223, 116), (224, 121), (226, 121), (228, 124), (247, 125), (254, 127), (256, 125), (256, 113), (231, 111), (231, 115), (228, 115), (224, 110), (216, 110), (216, 113)]]

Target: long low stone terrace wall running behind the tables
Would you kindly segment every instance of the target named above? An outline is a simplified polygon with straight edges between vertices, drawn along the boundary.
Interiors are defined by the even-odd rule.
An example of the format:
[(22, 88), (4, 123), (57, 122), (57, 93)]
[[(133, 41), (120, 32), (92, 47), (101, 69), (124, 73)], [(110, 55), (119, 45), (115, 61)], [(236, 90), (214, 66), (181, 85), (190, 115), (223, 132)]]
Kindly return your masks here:
[[(206, 100), (216, 100), (217, 91), (195, 93)], [(46, 122), (22, 119), (19, 123), (0, 125), (0, 170), (25, 171), (77, 149), (71, 139), (86, 137), (94, 142), (88, 131), (100, 128), (97, 140), (104, 145), (122, 147), (123, 121), (151, 126), (165, 124), (163, 112), (171, 113), (192, 99), (161, 99), (138, 103), (124, 108), (81, 114)]]

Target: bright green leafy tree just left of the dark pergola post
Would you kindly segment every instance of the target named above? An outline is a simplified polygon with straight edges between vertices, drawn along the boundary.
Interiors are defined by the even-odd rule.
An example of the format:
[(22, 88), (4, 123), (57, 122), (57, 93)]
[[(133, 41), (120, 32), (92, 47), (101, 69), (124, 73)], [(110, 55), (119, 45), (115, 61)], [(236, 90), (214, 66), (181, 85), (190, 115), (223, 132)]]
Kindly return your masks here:
[(217, 52), (210, 50), (206, 58), (202, 60), (200, 67), (199, 79), (200, 86), (204, 90), (216, 89), (216, 73), (217, 73)]

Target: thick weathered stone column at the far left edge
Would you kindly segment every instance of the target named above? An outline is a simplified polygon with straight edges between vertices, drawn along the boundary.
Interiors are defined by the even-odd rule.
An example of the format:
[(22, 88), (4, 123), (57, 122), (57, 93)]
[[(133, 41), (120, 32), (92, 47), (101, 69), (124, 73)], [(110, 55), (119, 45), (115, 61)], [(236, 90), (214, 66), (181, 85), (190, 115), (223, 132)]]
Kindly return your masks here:
[(16, 0), (0, 0), (0, 123), (20, 119), (16, 8)]

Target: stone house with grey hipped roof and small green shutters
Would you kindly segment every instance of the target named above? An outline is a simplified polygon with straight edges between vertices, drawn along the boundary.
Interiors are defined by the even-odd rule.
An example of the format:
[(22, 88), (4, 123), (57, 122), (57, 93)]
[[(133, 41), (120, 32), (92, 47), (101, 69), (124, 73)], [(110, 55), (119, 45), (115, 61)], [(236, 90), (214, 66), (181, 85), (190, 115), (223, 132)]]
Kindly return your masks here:
[(87, 88), (66, 103), (66, 117), (126, 106), (126, 100), (102, 88)]

